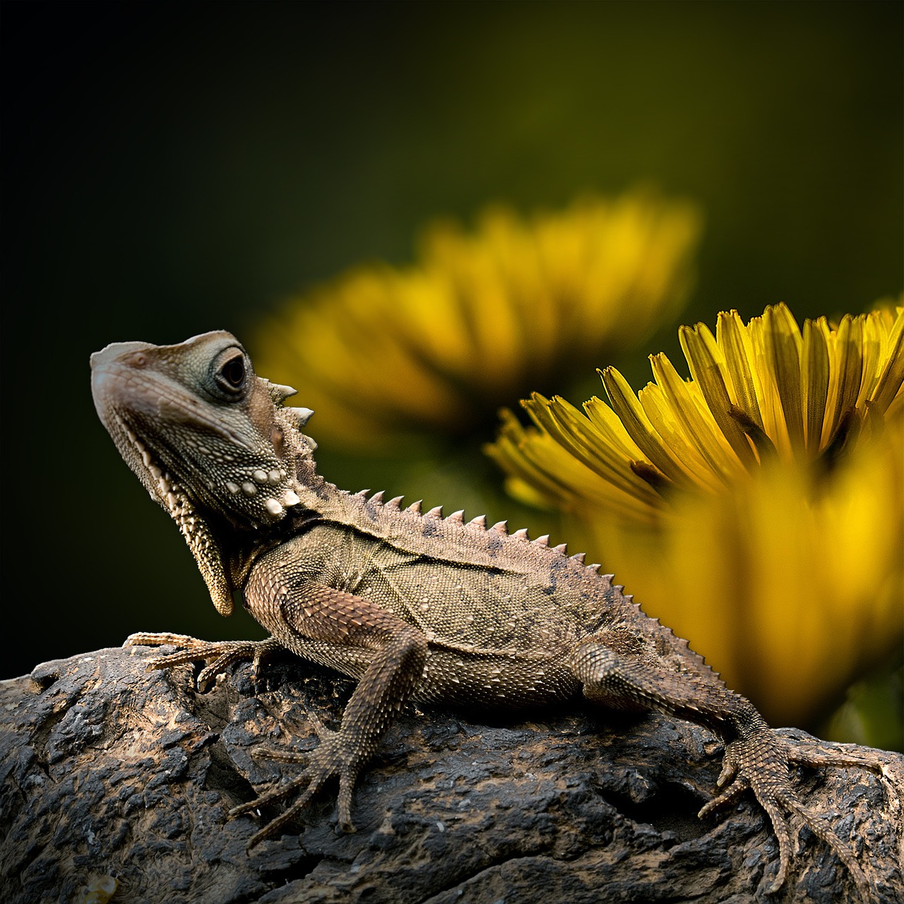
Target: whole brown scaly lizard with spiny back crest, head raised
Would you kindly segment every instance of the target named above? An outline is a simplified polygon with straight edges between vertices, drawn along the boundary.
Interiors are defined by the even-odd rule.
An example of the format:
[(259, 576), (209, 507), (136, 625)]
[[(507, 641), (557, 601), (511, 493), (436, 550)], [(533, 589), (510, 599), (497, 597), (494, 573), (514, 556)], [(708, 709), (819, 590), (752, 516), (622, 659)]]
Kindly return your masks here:
[(268, 631), (260, 641), (205, 642), (134, 634), (127, 645), (174, 644), (148, 669), (204, 662), (199, 687), (240, 659), (253, 674), (284, 648), (357, 680), (338, 730), (311, 716), (311, 753), (255, 755), (306, 764), (287, 782), (231, 810), (236, 816), (297, 795), (255, 833), (272, 837), (338, 779), (338, 822), (353, 831), (353, 786), (406, 702), (518, 710), (573, 698), (656, 710), (702, 725), (724, 742), (720, 793), (705, 816), (750, 790), (776, 833), (771, 890), (785, 883), (794, 835), (808, 826), (843, 862), (862, 897), (855, 854), (811, 813), (790, 767), (872, 767), (816, 753), (774, 732), (688, 641), (647, 617), (613, 576), (549, 538), (504, 522), (466, 522), (402, 497), (350, 494), (317, 473), (313, 414), (287, 407), (296, 391), (259, 377), (227, 332), (184, 343), (110, 344), (91, 355), (96, 410), (127, 465), (178, 524), (212, 602), (233, 592)]

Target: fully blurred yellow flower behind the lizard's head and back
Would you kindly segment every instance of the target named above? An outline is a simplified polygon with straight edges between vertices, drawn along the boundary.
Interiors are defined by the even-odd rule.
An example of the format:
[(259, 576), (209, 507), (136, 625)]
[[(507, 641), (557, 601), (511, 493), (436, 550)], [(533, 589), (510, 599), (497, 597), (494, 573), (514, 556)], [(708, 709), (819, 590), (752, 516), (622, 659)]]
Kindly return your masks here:
[(495, 207), (473, 234), (436, 223), (415, 266), (361, 266), (289, 303), (255, 361), (297, 381), (334, 444), (463, 435), (652, 332), (683, 303), (699, 230), (691, 206), (649, 193), (530, 220)]

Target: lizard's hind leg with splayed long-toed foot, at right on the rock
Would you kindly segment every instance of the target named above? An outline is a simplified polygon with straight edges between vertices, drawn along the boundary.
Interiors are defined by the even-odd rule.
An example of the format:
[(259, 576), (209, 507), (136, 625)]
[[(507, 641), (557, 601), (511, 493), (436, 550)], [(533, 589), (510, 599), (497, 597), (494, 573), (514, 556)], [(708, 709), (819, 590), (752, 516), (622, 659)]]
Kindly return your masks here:
[(746, 698), (730, 691), (715, 673), (677, 672), (649, 654), (621, 654), (601, 638), (589, 637), (575, 646), (570, 667), (584, 685), (589, 700), (628, 708), (656, 709), (703, 725), (725, 740), (718, 785), (730, 784), (700, 815), (711, 813), (748, 788), (766, 810), (778, 841), (778, 872), (770, 891), (779, 890), (791, 859), (792, 833), (788, 816), (805, 823), (850, 871), (864, 900), (869, 882), (851, 849), (824, 818), (810, 813), (789, 777), (789, 763), (806, 766), (861, 766), (857, 758), (826, 756), (793, 748), (767, 725)]

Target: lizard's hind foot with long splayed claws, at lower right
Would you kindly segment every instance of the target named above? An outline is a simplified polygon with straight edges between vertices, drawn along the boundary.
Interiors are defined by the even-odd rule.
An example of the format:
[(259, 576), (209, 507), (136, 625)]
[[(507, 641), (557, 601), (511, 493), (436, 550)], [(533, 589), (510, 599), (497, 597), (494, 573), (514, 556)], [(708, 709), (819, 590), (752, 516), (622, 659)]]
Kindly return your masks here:
[[(769, 729), (751, 732), (725, 746), (725, 758), (717, 785), (725, 790), (703, 806), (700, 816), (729, 803), (748, 788), (766, 810), (778, 840), (778, 874), (769, 889), (775, 893), (785, 883), (791, 861), (792, 825), (805, 824), (826, 844), (850, 872), (863, 900), (870, 899), (870, 884), (852, 849), (834, 832), (822, 816), (809, 812), (791, 786), (788, 764), (806, 766), (860, 766), (875, 769), (874, 764), (859, 758), (828, 756), (793, 749), (785, 739)], [(790, 822), (789, 822), (790, 817)]]

